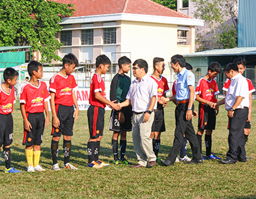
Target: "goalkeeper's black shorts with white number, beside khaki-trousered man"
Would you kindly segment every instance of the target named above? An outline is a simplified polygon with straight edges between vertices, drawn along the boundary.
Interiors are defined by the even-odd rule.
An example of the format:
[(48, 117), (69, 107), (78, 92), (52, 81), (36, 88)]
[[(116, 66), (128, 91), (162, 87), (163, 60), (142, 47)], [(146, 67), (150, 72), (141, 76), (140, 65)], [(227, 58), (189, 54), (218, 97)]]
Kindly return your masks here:
[(120, 124), (118, 121), (119, 113), (117, 113), (116, 111), (112, 111), (109, 122), (109, 130), (113, 130), (114, 132), (130, 132), (132, 128), (131, 119), (133, 116), (133, 112), (131, 111), (131, 105), (129, 105), (128, 107), (123, 107), (121, 111), (125, 116), (125, 122)]

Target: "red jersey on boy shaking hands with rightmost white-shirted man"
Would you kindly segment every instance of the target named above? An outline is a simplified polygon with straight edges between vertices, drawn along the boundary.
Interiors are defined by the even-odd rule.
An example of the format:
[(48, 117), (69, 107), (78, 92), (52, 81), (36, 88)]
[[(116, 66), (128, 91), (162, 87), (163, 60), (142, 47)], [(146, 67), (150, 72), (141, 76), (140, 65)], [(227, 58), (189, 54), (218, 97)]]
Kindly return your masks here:
[(217, 82), (214, 79), (208, 81), (205, 78), (200, 78), (197, 82), (196, 95), (199, 95), (200, 98), (215, 103), (217, 99), (214, 98), (214, 95), (219, 93)]

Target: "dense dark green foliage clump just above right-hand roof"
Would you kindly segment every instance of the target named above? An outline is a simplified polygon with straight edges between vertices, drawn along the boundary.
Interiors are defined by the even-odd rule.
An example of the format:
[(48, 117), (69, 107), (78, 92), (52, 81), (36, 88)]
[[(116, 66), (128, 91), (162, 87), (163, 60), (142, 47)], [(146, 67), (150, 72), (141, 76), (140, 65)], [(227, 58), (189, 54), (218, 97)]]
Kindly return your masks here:
[(235, 48), (237, 46), (237, 30), (234, 25), (224, 27), (224, 31), (220, 34), (220, 44), (222, 48)]

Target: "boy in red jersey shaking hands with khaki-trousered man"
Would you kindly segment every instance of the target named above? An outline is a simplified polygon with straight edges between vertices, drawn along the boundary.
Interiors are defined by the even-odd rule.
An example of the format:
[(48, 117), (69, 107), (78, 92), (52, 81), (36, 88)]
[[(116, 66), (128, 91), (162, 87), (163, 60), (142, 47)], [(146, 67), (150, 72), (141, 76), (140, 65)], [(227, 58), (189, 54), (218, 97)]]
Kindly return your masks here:
[(109, 70), (110, 60), (105, 54), (101, 54), (96, 58), (96, 73), (92, 77), (90, 83), (90, 97), (87, 117), (89, 125), (90, 138), (88, 147), (88, 167), (102, 168), (109, 166), (98, 159), (100, 151), (100, 141), (104, 130), (104, 115), (106, 104), (118, 110), (118, 105), (114, 101), (106, 99), (105, 83), (101, 77)]

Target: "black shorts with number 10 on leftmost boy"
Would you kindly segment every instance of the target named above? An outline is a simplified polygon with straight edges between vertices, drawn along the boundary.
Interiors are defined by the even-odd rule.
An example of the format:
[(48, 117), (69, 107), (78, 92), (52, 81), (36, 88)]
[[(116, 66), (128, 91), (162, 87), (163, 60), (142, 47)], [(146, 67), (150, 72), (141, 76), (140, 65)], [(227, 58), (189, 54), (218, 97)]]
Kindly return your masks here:
[(0, 147), (13, 142), (13, 116), (0, 114)]

